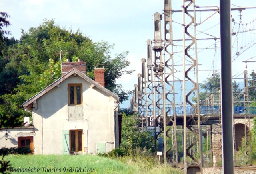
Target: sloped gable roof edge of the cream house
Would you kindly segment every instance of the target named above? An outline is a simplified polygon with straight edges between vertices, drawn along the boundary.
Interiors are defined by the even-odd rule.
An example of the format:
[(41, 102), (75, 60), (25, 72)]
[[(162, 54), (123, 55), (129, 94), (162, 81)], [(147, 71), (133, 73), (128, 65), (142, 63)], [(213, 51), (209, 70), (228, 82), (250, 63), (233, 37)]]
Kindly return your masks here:
[(73, 74), (76, 74), (76, 75), (80, 76), (81, 78), (83, 78), (84, 80), (86, 80), (90, 84), (94, 85), (96, 88), (98, 88), (99, 90), (101, 90), (105, 94), (108, 94), (109, 96), (112, 96), (114, 99), (119, 101), (119, 97), (116, 96), (115, 94), (113, 94), (110, 90), (104, 88), (103, 86), (101, 86), (100, 84), (98, 84), (97, 82), (95, 82), (94, 80), (89, 78), (88, 76), (82, 74), (79, 70), (72, 69), (70, 72), (68, 72), (67, 74), (65, 74), (64, 76), (62, 76), (61, 78), (59, 78), (58, 80), (56, 80), (55, 82), (53, 82), (52, 84), (50, 84), (49, 86), (44, 88), (42, 91), (38, 92), (38, 94), (34, 95), (28, 101), (24, 102), (22, 104), (23, 107), (26, 108), (27, 110), (31, 109), (33, 107), (33, 102), (34, 101), (36, 101), (38, 98), (42, 97), (44, 94), (46, 94), (47, 92), (52, 90), (52, 88), (54, 88), (55, 86), (57, 86), (58, 84), (60, 84), (61, 82), (63, 82), (67, 78), (69, 78), (70, 76), (72, 76)]

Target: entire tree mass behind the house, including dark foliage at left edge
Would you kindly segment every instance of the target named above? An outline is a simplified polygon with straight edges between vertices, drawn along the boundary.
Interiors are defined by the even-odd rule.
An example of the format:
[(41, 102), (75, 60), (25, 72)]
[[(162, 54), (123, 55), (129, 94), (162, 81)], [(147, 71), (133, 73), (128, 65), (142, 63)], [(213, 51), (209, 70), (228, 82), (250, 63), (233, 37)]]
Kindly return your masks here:
[[(126, 70), (130, 65), (126, 60), (128, 51), (112, 57), (113, 44), (93, 42), (81, 31), (61, 28), (54, 20), (44, 20), (38, 27), (22, 30), (19, 41), (11, 38), (4, 43), (0, 55), (0, 111), (9, 116), (14, 111), (18, 111), (18, 115), (27, 115), (22, 103), (60, 78), (60, 50), (65, 53), (62, 61), (78, 58), (85, 61), (87, 76), (92, 79), (94, 66), (103, 64), (106, 88), (118, 95), (120, 102), (128, 99), (129, 92), (124, 91), (116, 80), (134, 70)], [(9, 111), (4, 109), (8, 108), (4, 107), (6, 100), (9, 101)]]

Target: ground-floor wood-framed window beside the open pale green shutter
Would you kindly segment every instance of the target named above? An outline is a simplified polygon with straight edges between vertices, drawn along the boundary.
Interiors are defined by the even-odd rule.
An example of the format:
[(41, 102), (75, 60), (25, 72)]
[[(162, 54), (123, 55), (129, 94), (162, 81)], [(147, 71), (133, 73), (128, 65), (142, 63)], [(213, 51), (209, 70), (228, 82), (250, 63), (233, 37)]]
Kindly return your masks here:
[(70, 151), (79, 152), (82, 151), (82, 130), (70, 130)]

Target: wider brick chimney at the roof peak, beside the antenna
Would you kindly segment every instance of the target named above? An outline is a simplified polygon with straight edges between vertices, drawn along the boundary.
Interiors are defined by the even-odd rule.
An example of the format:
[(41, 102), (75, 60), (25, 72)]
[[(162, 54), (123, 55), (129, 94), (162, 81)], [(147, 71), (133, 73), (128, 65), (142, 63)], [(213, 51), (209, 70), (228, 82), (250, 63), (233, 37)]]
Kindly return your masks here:
[(73, 68), (79, 70), (84, 75), (86, 75), (86, 62), (82, 62), (81, 59), (78, 59), (78, 62), (70, 62), (69, 59), (67, 59), (66, 62), (62, 62), (62, 71), (61, 74), (64, 76), (68, 72), (70, 72)]

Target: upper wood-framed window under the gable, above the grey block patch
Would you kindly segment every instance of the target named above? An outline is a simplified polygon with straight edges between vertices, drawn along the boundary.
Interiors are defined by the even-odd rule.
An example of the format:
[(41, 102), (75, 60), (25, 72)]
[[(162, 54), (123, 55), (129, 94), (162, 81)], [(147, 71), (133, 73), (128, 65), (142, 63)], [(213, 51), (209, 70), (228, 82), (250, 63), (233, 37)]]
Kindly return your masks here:
[(68, 84), (68, 105), (82, 104), (82, 96), (82, 84)]

